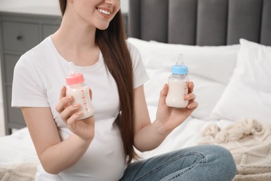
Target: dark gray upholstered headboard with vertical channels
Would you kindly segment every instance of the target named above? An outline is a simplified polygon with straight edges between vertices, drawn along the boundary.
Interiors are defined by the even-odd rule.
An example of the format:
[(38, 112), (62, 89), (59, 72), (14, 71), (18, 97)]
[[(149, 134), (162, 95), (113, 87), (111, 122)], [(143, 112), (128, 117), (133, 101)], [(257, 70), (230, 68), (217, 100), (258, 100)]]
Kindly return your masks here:
[(128, 35), (184, 45), (271, 45), (271, 0), (129, 0)]

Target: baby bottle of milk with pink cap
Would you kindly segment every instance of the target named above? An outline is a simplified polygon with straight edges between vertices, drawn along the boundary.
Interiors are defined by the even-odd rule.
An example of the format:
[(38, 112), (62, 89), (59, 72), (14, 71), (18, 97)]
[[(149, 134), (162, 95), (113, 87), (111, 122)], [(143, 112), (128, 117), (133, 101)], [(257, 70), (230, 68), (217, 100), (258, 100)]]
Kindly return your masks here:
[(88, 86), (85, 85), (83, 74), (74, 72), (74, 63), (69, 63), (69, 75), (66, 77), (67, 96), (72, 96), (71, 104), (80, 104), (80, 111), (83, 115), (79, 120), (90, 118), (94, 114), (94, 107), (90, 100), (90, 92)]

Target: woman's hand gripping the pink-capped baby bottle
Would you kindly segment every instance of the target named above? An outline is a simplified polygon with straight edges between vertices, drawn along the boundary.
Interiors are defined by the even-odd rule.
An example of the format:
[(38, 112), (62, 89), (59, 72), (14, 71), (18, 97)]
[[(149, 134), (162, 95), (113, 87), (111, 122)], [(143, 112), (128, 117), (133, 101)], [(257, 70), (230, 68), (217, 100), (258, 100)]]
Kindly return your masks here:
[[(92, 97), (91, 90), (90, 97)], [(66, 87), (63, 86), (60, 91), (59, 102), (56, 104), (56, 111), (58, 111), (69, 130), (81, 137), (81, 139), (92, 141), (95, 134), (95, 117), (77, 120), (83, 113), (79, 110), (80, 104), (71, 104), (72, 99), (71, 96), (66, 96)]]

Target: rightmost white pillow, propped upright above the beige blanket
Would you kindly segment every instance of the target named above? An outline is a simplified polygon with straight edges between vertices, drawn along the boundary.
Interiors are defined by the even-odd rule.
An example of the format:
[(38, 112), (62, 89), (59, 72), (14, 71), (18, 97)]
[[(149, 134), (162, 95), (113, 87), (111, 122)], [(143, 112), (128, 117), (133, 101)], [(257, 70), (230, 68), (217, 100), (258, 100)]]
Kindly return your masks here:
[(271, 123), (271, 47), (244, 39), (240, 45), (236, 69), (211, 116)]

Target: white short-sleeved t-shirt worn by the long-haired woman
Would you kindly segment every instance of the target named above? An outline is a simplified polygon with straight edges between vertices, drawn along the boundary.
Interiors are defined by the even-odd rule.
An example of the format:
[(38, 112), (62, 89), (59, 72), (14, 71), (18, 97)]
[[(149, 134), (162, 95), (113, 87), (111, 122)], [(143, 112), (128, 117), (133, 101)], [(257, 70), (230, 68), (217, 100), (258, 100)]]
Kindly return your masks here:
[[(129, 42), (127, 45), (133, 61), (133, 87), (137, 88), (149, 77), (138, 49)], [(36, 180), (119, 180), (126, 168), (126, 159), (120, 130), (115, 124), (120, 112), (117, 84), (101, 54), (95, 65), (76, 66), (76, 72), (83, 73), (85, 84), (92, 89), (95, 138), (74, 166), (58, 175), (51, 175), (39, 165)], [(67, 139), (72, 132), (61, 120), (55, 107), (68, 73), (69, 63), (60, 56), (49, 36), (19, 58), (13, 78), (12, 106), (50, 107), (62, 140)], [(39, 121), (38, 118), (35, 121)]]

